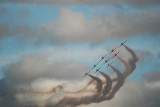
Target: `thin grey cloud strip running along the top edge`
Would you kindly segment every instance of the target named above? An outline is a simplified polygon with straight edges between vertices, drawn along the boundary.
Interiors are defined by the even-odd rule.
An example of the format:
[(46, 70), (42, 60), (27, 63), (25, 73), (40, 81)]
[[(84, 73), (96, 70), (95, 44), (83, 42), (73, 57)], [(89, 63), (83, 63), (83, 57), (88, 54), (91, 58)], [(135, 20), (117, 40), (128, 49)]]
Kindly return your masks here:
[(158, 0), (0, 0), (0, 2), (12, 3), (38, 3), (38, 4), (77, 4), (77, 5), (97, 5), (97, 4), (129, 4), (134, 6), (152, 6), (159, 5)]

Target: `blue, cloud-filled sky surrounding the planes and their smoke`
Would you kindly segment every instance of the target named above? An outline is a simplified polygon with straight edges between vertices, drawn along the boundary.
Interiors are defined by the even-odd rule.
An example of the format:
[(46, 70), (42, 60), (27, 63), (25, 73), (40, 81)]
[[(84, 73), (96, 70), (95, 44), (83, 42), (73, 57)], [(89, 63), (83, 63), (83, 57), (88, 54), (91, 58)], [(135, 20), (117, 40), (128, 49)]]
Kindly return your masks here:
[[(0, 105), (47, 107), (45, 98), (8, 89), (85, 83), (83, 74), (127, 40), (139, 59), (134, 72), (114, 99), (82, 107), (159, 107), (159, 19), (158, 0), (0, 0)], [(123, 70), (119, 64), (115, 58), (113, 66)]]

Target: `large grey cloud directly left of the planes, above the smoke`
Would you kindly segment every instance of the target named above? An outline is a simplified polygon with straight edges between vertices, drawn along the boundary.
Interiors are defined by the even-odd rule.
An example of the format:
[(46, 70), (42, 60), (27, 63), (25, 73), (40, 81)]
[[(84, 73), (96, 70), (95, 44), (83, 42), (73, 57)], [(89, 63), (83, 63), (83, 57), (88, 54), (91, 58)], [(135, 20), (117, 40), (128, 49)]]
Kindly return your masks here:
[(39, 78), (78, 80), (88, 69), (83, 64), (70, 61), (51, 62), (46, 55), (34, 53), (3, 70), (9, 83), (24, 84)]

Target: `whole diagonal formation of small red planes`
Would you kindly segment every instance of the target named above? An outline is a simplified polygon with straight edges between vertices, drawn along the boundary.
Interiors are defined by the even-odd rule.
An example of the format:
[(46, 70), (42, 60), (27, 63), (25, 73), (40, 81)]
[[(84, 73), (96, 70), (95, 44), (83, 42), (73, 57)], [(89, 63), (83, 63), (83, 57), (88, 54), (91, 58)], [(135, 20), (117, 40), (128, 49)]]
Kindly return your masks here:
[[(88, 72), (86, 72), (83, 77), (87, 76), (87, 75), (88, 75), (94, 68), (96, 68), (97, 65), (98, 65), (101, 61), (103, 61), (103, 60), (104, 60), (104, 63), (103, 63), (98, 69), (96, 69), (94, 73), (99, 72), (100, 69), (101, 69), (103, 66), (105, 66), (105, 65), (107, 65), (105, 68), (111, 66), (114, 61), (112, 61), (111, 63), (108, 63), (108, 62), (109, 62), (111, 59), (114, 59), (114, 58), (120, 53), (120, 51), (114, 53), (115, 50), (117, 50), (118, 48), (122, 47), (126, 42), (127, 42), (127, 40), (124, 41), (124, 42), (122, 42), (119, 46), (113, 48), (113, 49), (109, 52), (109, 54), (105, 54), (104, 56), (102, 56), (101, 59), (100, 59)], [(112, 54), (112, 56), (109, 57), (109, 58), (106, 58), (107, 55), (110, 55), (110, 54)], [(108, 64), (107, 64), (107, 63), (108, 63)]]

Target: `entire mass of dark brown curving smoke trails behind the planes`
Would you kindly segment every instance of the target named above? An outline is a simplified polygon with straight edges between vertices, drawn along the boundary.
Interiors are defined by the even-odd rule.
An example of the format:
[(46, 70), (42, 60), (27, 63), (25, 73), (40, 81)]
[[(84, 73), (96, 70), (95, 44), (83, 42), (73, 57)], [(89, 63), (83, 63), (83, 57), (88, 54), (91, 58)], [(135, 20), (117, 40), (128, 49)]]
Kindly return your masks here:
[[(89, 75), (92, 79), (94, 79), (97, 82), (96, 83), (97, 91), (93, 95), (78, 97), (78, 98), (65, 97), (61, 101), (59, 101), (58, 104), (55, 105), (54, 107), (63, 107), (63, 106), (75, 107), (82, 104), (99, 103), (105, 100), (111, 100), (115, 96), (116, 92), (122, 87), (124, 80), (127, 78), (127, 76), (130, 75), (135, 70), (136, 62), (138, 61), (138, 58), (134, 53), (134, 51), (128, 48), (127, 46), (124, 46), (124, 47), (132, 55), (132, 58), (130, 58), (129, 62), (127, 63), (126, 61), (118, 57), (119, 60), (126, 67), (123, 73), (121, 73), (118, 69), (116, 69), (113, 66), (111, 66), (111, 68), (117, 74), (117, 78), (110, 79), (109, 76), (106, 76), (107, 74), (100, 72), (100, 74), (104, 76), (106, 79), (103, 90), (102, 90), (102, 86), (103, 86), (102, 81), (95, 76)], [(116, 84), (112, 87), (112, 82), (114, 81), (116, 82)]]

